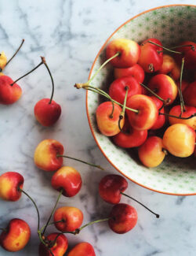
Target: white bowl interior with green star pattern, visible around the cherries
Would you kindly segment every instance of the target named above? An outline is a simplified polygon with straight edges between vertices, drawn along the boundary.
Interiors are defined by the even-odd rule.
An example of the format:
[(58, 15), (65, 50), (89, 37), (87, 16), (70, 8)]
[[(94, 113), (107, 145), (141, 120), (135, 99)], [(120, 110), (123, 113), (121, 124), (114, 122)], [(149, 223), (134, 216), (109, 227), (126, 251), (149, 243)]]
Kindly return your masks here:
[[(140, 43), (147, 38), (157, 38), (164, 46), (176, 45), (182, 40), (196, 41), (196, 6), (163, 6), (128, 20), (104, 43), (91, 70), (90, 76), (99, 69), (105, 60), (105, 46), (116, 38), (127, 38)], [(112, 81), (112, 67), (107, 65), (91, 83), (107, 91)], [(140, 164), (134, 150), (116, 147), (111, 139), (100, 134), (96, 127), (96, 108), (102, 101), (99, 95), (88, 91), (86, 98), (89, 124), (108, 161), (123, 175), (137, 184), (151, 190), (173, 194), (196, 194), (195, 158), (165, 158), (162, 165), (148, 169)]]

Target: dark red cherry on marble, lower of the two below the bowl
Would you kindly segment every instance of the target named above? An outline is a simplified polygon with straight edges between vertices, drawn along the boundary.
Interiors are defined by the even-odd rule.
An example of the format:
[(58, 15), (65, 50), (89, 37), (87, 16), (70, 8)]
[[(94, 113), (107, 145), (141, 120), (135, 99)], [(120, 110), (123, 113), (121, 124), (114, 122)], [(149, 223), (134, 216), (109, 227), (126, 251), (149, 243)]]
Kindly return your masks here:
[(137, 212), (132, 206), (118, 203), (112, 207), (108, 224), (113, 232), (125, 234), (136, 226), (136, 222)]

